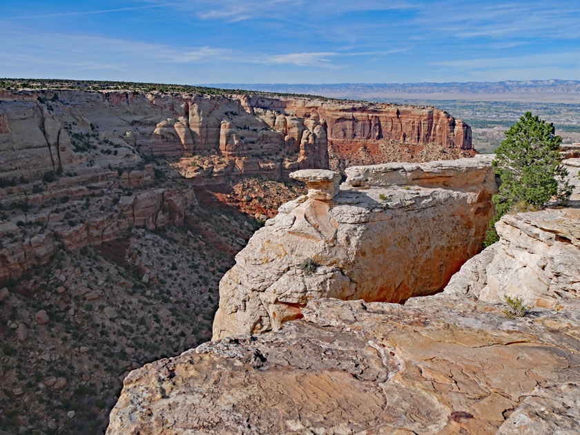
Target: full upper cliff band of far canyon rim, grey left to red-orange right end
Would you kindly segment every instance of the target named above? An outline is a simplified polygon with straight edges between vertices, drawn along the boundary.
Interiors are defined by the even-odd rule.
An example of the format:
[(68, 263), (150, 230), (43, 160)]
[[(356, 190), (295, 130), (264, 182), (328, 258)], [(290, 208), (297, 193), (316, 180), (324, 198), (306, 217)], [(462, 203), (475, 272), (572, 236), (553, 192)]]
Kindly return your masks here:
[[(340, 160), (352, 153), (340, 146), (351, 142), (368, 146), (369, 155), (387, 140), (402, 148), (438, 144), (457, 157), (473, 151), (470, 132), (434, 108), (251, 95), (0, 90), (4, 177), (39, 177), (89, 161), (86, 134), (110, 141), (119, 153), (134, 147), (183, 156), (177, 168), (185, 177), (214, 184), (235, 175), (278, 179), (297, 169), (328, 168), (329, 146)], [(383, 154), (382, 161), (398, 156)], [(356, 162), (375, 160), (363, 155)]]

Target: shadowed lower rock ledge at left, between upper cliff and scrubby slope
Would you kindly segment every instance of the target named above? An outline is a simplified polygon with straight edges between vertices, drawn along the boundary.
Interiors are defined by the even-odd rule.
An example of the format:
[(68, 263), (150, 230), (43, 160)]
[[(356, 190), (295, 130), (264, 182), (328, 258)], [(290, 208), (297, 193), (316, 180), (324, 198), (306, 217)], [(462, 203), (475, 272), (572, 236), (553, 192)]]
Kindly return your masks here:
[[(180, 225), (197, 205), (189, 186), (155, 186), (151, 165), (0, 189), (0, 282), (46, 264), (59, 249), (101, 244), (133, 226)], [(7, 214), (10, 213), (10, 214)]]

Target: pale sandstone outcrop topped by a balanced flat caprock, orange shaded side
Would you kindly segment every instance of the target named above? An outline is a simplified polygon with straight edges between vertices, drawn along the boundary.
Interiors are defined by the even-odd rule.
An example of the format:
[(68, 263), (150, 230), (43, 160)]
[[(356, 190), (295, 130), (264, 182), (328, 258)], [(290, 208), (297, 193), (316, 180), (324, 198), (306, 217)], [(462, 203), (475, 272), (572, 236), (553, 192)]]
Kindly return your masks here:
[[(309, 300), (399, 302), (441, 291), (481, 247), (491, 157), (298, 171), (309, 194), (280, 207), (220, 282), (213, 338), (268, 331)], [(370, 273), (369, 273), (370, 272)]]

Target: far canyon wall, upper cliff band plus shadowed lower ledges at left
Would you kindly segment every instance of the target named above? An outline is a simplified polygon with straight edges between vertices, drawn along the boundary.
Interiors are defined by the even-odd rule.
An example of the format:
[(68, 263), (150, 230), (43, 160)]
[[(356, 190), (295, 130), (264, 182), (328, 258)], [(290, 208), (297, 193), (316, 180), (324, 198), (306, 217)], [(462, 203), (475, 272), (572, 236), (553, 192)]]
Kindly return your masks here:
[[(0, 235), (9, 240), (0, 249), (0, 282), (46, 263), (60, 246), (107, 242), (131, 226), (180, 224), (195, 204), (193, 186), (235, 177), (288, 180), (297, 169), (329, 168), (335, 146), (372, 148), (385, 140), (407, 152), (434, 146), (450, 157), (474, 153), (469, 126), (434, 108), (252, 95), (0, 90), (0, 172), (8, 185), (0, 188), (0, 205), (10, 215), (0, 222)], [(333, 153), (345, 161), (340, 151)], [(374, 158), (396, 160), (398, 153), (392, 154)], [(160, 158), (169, 160), (154, 167)], [(173, 171), (166, 177), (168, 166)], [(72, 198), (87, 204), (76, 220), (58, 211)]]

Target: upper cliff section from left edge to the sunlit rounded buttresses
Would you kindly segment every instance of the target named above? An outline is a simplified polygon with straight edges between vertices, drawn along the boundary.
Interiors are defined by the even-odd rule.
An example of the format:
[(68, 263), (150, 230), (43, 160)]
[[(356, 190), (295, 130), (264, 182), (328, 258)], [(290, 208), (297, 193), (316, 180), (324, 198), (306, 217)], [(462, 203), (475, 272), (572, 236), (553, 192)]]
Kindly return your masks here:
[(236, 97), (219, 95), (4, 90), (0, 171), (3, 177), (69, 171), (90, 162), (87, 135), (110, 142), (117, 153), (220, 156), (184, 170), (200, 184), (222, 182), (224, 173), (280, 178), (284, 171), (328, 166), (326, 133), (318, 121), (249, 110)]

